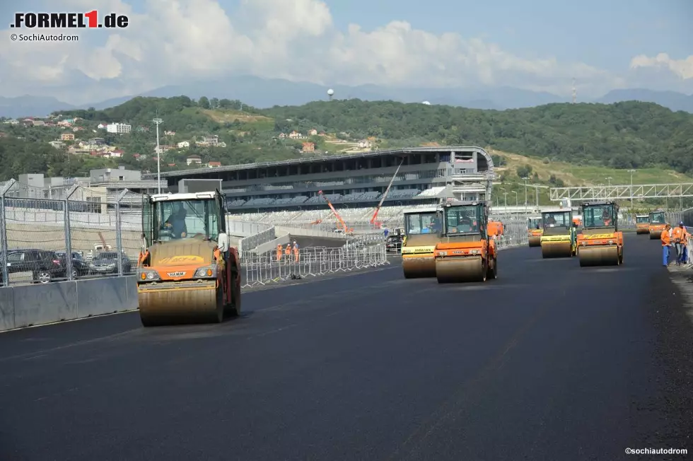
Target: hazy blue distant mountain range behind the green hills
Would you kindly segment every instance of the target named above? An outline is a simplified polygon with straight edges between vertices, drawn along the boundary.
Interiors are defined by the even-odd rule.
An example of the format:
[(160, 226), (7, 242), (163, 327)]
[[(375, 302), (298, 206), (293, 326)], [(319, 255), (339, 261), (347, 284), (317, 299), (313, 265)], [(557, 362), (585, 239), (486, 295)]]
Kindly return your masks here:
[[(51, 112), (69, 109), (97, 110), (120, 105), (135, 96), (170, 98), (186, 95), (198, 99), (227, 98), (240, 100), (258, 108), (274, 105), (303, 105), (313, 100), (326, 99), (327, 87), (315, 83), (265, 79), (255, 76), (236, 76), (221, 81), (199, 81), (183, 85), (169, 85), (139, 95), (112, 98), (85, 105), (71, 105), (50, 96), (23, 95), (16, 98), (0, 97), (0, 117), (43, 117)], [(403, 103), (422, 103), (470, 107), (473, 109), (506, 110), (535, 107), (550, 103), (567, 103), (564, 97), (552, 93), (520, 90), (518, 88), (389, 88), (385, 86), (334, 86), (334, 98), (361, 100), (395, 100)], [(612, 104), (619, 101), (639, 100), (656, 103), (670, 110), (693, 113), (693, 95), (674, 91), (653, 91), (643, 88), (613, 90), (586, 103)]]

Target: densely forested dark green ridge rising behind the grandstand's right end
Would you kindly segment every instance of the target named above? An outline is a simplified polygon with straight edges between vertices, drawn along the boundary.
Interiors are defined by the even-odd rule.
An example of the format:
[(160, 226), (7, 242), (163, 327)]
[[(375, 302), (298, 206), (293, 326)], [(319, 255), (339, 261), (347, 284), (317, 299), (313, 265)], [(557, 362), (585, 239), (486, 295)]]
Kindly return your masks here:
[(670, 165), (682, 173), (693, 171), (693, 115), (653, 103), (549, 104), (496, 111), (344, 100), (261, 112), (279, 124), (315, 124), (352, 136), (492, 146), (613, 168)]

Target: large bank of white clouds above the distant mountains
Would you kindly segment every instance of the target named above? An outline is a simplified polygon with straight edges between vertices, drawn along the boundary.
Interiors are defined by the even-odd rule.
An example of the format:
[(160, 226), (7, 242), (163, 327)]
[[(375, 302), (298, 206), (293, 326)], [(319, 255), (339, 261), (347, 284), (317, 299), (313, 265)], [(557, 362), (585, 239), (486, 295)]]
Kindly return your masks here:
[[(80, 30), (79, 42), (11, 42), (17, 30), (0, 31), (2, 91), (39, 94), (40, 88), (78, 81), (69, 99), (83, 103), (233, 72), (330, 86), (482, 84), (561, 95), (570, 93), (573, 77), (585, 92), (625, 83), (588, 64), (528, 59), (478, 37), (429, 33), (404, 21), (371, 31), (349, 25), (340, 32), (319, 0), (243, 0), (232, 12), (216, 0), (146, 0), (137, 10), (144, 13), (132, 5), (134, 0), (50, 3), (51, 11), (97, 9), (129, 17), (124, 30)], [(690, 76), (692, 59), (675, 69)]]

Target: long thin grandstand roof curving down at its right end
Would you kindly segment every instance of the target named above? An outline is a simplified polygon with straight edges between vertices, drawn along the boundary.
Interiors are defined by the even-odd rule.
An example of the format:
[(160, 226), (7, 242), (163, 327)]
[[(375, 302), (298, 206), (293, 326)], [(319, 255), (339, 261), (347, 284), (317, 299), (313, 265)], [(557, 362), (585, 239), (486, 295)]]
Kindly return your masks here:
[[(293, 160), (276, 161), (276, 162), (260, 162), (260, 163), (245, 163), (243, 165), (230, 165), (221, 166), (214, 169), (210, 168), (194, 168), (192, 170), (180, 170), (180, 171), (168, 171), (161, 173), (161, 177), (178, 177), (178, 176), (189, 176), (195, 174), (204, 173), (221, 173), (224, 171), (236, 171), (236, 170), (253, 170), (255, 168), (272, 167), (279, 165), (297, 165), (301, 163), (320, 163), (324, 161), (333, 160), (344, 160), (348, 158), (368, 158), (368, 157), (378, 157), (387, 155), (397, 155), (404, 153), (425, 153), (425, 152), (476, 152), (482, 154), (486, 159), (489, 170), (494, 168), (494, 162), (487, 151), (478, 146), (439, 146), (439, 147), (412, 147), (412, 148), (402, 148), (402, 149), (390, 149), (387, 151), (371, 151), (371, 152), (361, 152), (361, 153), (344, 153), (339, 155), (328, 155), (328, 156), (318, 156), (310, 158), (296, 158)], [(142, 177), (156, 177), (156, 174), (142, 175)]]

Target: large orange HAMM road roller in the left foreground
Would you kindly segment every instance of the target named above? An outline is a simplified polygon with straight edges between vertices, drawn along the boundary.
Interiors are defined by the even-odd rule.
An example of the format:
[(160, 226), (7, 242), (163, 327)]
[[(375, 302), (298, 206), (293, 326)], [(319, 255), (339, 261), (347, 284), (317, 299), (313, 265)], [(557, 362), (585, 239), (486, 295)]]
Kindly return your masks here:
[(240, 315), (240, 258), (226, 234), (223, 194), (145, 195), (137, 296), (142, 325)]

